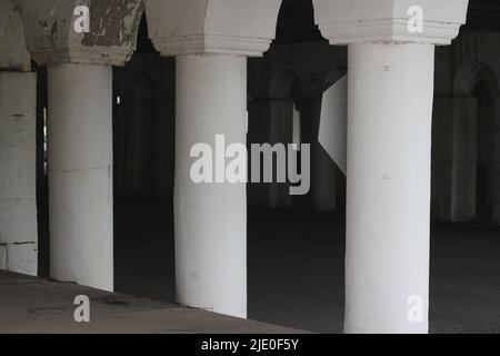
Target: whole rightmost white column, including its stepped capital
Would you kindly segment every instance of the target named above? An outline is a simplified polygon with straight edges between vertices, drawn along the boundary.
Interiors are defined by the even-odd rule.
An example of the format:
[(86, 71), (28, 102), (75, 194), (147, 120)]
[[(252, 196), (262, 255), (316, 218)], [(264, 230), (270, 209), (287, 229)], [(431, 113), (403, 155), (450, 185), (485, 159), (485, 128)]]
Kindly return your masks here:
[(323, 36), (349, 44), (346, 333), (428, 332), (434, 44), (467, 7), (314, 0)]

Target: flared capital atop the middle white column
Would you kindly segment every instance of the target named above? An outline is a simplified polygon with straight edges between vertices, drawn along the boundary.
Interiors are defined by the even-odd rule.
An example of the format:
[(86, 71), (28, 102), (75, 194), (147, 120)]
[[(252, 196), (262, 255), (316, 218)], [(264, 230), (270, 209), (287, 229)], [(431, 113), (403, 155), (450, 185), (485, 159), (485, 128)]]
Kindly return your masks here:
[(162, 56), (260, 57), (276, 36), (281, 0), (144, 0), (149, 37)]

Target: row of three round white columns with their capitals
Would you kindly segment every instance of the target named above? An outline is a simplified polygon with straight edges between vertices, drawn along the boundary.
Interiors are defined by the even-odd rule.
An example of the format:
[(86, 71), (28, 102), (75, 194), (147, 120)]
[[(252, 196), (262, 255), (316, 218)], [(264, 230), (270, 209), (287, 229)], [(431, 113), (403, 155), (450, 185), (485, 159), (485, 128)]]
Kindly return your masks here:
[[(144, 6), (154, 47), (177, 61), (178, 301), (246, 317), (246, 186), (193, 184), (189, 156), (216, 135), (246, 144), (247, 58), (271, 44), (281, 0), (102, 0), (90, 19), (108, 20), (90, 33), (72, 28), (77, 2), (20, 1), (28, 49), (49, 71), (51, 276), (113, 289), (111, 66), (131, 57)], [(468, 1), (313, 3), (323, 37), (349, 46), (344, 330), (427, 333), (433, 51)]]

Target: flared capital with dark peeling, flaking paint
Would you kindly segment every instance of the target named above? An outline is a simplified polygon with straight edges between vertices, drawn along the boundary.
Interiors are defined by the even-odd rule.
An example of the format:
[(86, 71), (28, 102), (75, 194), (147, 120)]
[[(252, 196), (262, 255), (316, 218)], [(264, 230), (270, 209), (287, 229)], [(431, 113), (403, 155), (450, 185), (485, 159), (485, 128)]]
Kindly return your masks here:
[[(123, 66), (136, 50), (141, 0), (18, 0), (28, 50), (39, 65), (90, 63)], [(89, 31), (76, 21), (89, 9)]]

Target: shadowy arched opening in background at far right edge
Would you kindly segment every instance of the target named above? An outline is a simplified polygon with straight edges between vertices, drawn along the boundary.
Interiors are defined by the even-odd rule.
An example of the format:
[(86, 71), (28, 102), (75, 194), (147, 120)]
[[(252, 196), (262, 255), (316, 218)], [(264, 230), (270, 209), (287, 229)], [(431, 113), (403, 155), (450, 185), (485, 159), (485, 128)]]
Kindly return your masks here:
[(454, 80), (458, 100), (463, 103), (462, 110), (457, 107), (454, 113), (454, 129), (459, 132), (453, 136), (454, 205), (457, 211), (462, 209), (459, 205), (470, 206), (469, 214), (457, 214), (457, 221), (491, 224), (493, 220), (496, 197), (500, 194), (496, 184), (499, 160), (496, 128), (500, 122), (496, 78), (488, 65), (472, 62), (463, 66)]

